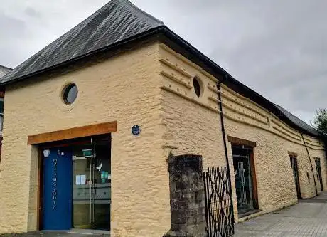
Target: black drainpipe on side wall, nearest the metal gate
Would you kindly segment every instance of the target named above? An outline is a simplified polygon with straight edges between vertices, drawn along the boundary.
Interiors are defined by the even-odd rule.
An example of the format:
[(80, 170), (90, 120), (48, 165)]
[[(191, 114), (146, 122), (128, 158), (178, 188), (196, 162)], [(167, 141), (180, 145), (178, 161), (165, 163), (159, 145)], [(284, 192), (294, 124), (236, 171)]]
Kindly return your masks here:
[[(223, 115), (223, 102), (221, 100), (221, 93), (220, 93), (220, 84), (223, 83), (224, 80), (227, 79), (227, 75), (225, 74), (225, 78), (223, 80), (218, 80), (217, 89), (218, 89), (218, 105), (219, 105), (219, 114), (220, 114), (220, 124), (221, 124), (221, 132), (223, 134), (223, 142), (224, 142), (224, 149), (225, 149), (225, 158), (227, 164), (227, 177), (228, 177), (228, 185), (230, 186), (230, 191), (232, 191), (232, 181), (230, 180), (230, 162), (228, 162), (228, 153), (227, 153), (227, 143), (226, 143), (226, 136), (225, 136), (225, 125), (224, 125), (224, 115)], [(231, 211), (232, 211), (232, 222), (235, 223), (234, 218), (234, 203), (232, 201), (232, 193), (230, 195), (231, 201)]]

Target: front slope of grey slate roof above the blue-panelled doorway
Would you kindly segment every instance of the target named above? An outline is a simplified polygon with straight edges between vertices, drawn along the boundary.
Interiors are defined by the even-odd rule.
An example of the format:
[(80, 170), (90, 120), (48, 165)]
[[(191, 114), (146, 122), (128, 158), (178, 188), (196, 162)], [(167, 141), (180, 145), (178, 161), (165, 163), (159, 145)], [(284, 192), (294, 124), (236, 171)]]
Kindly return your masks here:
[(127, 0), (109, 1), (95, 14), (0, 78), (0, 84), (60, 65), (162, 25), (163, 22)]

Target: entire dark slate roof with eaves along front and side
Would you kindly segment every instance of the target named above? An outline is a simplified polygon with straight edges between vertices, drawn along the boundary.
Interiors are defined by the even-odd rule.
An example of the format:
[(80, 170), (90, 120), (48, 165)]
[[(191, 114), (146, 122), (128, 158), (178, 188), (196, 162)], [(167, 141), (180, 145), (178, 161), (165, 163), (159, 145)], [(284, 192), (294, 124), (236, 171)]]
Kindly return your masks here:
[(213, 60), (171, 31), (163, 22), (141, 11), (128, 0), (109, 1), (95, 14), (28, 58), (4, 77), (0, 76), (0, 86), (17, 80), (31, 79), (33, 75), (62, 67), (74, 60), (110, 48), (119, 48), (123, 43), (131, 43), (159, 33), (166, 37), (164, 42), (173, 50), (208, 70), (212, 75), (220, 78), (223, 76), (225, 78), (223, 83), (235, 92), (273, 112), (291, 127), (314, 137), (320, 136), (313, 127), (240, 83)]

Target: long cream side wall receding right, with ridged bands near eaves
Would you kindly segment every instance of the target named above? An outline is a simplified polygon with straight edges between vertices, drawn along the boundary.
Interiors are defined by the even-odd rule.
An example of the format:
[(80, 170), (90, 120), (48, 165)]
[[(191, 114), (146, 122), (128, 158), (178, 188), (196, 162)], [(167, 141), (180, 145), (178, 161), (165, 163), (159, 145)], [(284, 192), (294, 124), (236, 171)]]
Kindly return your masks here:
[[(201, 154), (204, 169), (208, 165), (225, 165), (223, 139), (218, 114), (216, 78), (191, 63), (167, 46), (160, 45), (161, 113), (166, 127), (164, 148), (166, 153)], [(193, 90), (193, 77), (203, 83), (203, 94), (198, 98)], [(275, 115), (247, 98), (222, 85), (223, 112), (226, 136), (239, 137), (257, 143), (254, 162), (257, 174), (259, 209), (265, 212), (296, 203), (296, 189), (288, 152), (298, 155), (301, 196), (316, 194), (309, 157), (301, 134), (284, 124)], [(227, 139), (227, 137), (226, 137)], [(304, 135), (309, 146), (313, 172), (313, 157), (321, 158), (323, 186), (326, 186), (326, 157), (323, 147), (315, 138)], [(230, 169), (233, 171), (232, 149), (227, 142)], [(310, 181), (307, 178), (309, 173)], [(235, 175), (232, 172), (232, 189), (237, 218)], [(316, 179), (317, 181), (317, 179)], [(317, 181), (317, 186), (318, 186)], [(319, 190), (319, 189), (318, 189)], [(242, 221), (242, 219), (240, 220)]]

